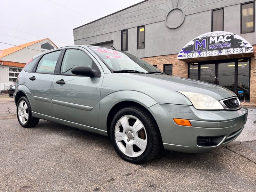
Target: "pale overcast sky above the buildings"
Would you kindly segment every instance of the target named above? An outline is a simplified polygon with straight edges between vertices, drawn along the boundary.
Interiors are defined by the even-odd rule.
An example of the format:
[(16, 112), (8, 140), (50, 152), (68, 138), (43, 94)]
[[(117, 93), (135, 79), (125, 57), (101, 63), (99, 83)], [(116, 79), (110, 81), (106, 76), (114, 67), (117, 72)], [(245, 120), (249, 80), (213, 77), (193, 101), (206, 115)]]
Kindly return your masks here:
[(47, 37), (58, 47), (74, 44), (73, 28), (141, 1), (0, 0), (0, 50)]

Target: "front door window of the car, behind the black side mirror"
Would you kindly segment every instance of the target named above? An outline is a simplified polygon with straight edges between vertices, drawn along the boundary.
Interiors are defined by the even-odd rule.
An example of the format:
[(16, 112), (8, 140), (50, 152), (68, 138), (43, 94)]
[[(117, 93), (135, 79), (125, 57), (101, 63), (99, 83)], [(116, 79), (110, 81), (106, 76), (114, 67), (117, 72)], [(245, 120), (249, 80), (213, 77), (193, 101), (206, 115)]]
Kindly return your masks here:
[(85, 52), (78, 49), (68, 49), (65, 52), (60, 73), (72, 74), (71, 69), (78, 65), (88, 66), (92, 69), (96, 66), (94, 61)]

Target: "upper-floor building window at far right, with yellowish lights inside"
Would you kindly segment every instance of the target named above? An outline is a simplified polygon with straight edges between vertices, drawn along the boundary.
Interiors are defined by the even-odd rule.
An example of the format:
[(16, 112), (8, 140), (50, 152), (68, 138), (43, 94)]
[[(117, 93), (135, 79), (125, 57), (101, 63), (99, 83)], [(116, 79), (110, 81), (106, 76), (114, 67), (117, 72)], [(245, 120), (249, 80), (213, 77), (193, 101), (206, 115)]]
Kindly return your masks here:
[(241, 5), (241, 33), (254, 32), (254, 2)]

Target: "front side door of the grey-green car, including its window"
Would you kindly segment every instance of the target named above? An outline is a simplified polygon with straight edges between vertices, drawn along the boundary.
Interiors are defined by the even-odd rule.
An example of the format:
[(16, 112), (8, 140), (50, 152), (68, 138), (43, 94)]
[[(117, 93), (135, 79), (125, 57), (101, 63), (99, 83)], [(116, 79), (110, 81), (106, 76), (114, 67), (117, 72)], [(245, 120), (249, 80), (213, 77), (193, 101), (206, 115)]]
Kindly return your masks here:
[[(71, 73), (75, 66), (88, 66), (98, 76), (77, 76)], [(97, 60), (84, 48), (65, 50), (61, 66), (53, 79), (52, 106), (54, 117), (99, 127), (100, 89), (103, 70)]]

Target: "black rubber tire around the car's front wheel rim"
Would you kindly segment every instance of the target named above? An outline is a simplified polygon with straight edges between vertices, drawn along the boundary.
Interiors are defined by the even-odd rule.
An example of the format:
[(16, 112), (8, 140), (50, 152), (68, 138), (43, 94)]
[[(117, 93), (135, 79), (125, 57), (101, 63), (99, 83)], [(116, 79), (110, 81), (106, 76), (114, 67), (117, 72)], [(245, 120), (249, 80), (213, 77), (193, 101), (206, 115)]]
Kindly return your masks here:
[[(134, 116), (137, 119), (139, 119), (144, 127), (142, 129), (145, 129), (145, 131), (146, 131), (147, 145), (146, 145), (146, 148), (143, 149), (144, 152), (141, 153), (139, 156), (136, 156), (136, 157), (127, 156), (117, 145), (115, 129), (116, 129), (116, 126), (118, 126), (117, 123), (121, 122), (121, 118), (123, 118), (124, 116)], [(130, 125), (130, 126), (132, 126), (132, 125)], [(118, 126), (118, 127), (120, 128), (120, 126)], [(125, 107), (125, 108), (119, 110), (116, 113), (116, 115), (113, 117), (109, 133), (110, 133), (111, 142), (112, 142), (117, 154), (119, 156), (121, 156), (124, 160), (134, 163), (134, 164), (142, 164), (142, 163), (145, 163), (145, 162), (155, 158), (158, 155), (158, 153), (161, 150), (162, 145), (163, 145), (158, 126), (157, 126), (155, 120), (153, 119), (153, 116), (145, 109), (137, 107), (137, 106)], [(119, 133), (121, 133), (121, 131), (119, 131)], [(125, 134), (127, 134), (127, 132), (125, 132)], [(136, 133), (133, 132), (133, 134), (136, 134)], [(122, 133), (122, 135), (124, 135), (124, 134)], [(123, 139), (123, 137), (121, 137), (121, 138)], [(134, 140), (134, 137), (133, 137), (133, 140)], [(123, 140), (122, 143), (123, 142), (126, 142), (126, 141)], [(125, 144), (125, 148), (126, 148), (126, 144)], [(132, 147), (132, 148), (134, 148), (134, 147)]]

